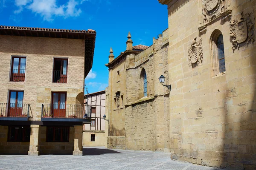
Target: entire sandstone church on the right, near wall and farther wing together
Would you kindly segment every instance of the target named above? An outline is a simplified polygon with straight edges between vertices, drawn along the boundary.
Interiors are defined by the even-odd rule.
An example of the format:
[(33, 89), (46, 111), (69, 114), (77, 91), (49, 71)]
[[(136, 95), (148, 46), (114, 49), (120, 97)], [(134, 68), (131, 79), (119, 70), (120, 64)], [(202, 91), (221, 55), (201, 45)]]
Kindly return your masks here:
[(168, 55), (160, 52), (164, 45), (147, 57), (140, 56), (150, 48), (110, 55), (108, 147), (169, 150), (180, 161), (255, 169), (256, 1), (159, 2), (168, 6), (169, 29), (153, 47), (167, 40)]

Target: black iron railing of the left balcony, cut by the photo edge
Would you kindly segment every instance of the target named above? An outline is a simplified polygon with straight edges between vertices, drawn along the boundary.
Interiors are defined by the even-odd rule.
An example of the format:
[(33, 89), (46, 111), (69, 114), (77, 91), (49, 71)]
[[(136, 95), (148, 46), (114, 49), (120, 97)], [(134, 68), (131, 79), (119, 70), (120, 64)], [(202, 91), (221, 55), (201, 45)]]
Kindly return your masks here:
[(0, 103), (1, 117), (29, 117), (30, 105), (19, 103)]

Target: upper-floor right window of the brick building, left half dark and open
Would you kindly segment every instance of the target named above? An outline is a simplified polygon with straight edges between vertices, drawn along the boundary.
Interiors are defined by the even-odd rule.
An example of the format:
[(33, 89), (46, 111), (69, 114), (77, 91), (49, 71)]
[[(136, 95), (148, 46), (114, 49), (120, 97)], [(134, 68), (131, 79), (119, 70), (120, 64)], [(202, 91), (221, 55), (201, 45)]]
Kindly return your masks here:
[(67, 59), (54, 59), (52, 82), (67, 83), (67, 66)]

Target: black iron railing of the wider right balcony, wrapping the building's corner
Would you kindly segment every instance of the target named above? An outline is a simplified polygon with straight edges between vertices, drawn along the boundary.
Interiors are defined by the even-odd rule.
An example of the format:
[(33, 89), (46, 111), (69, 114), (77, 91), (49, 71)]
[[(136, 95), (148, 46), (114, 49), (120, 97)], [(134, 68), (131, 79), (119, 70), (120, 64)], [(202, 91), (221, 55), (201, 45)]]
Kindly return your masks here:
[(88, 105), (42, 104), (41, 117), (91, 119), (91, 107)]

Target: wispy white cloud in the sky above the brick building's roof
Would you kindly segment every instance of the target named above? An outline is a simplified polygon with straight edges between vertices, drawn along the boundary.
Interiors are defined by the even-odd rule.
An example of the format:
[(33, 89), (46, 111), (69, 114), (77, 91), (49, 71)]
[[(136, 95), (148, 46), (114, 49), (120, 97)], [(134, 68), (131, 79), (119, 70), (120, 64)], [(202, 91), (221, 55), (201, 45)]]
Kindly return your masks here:
[(66, 4), (58, 5), (57, 0), (15, 0), (18, 9), (14, 13), (18, 14), (27, 8), (47, 21), (52, 21), (58, 16), (78, 17), (82, 11), (77, 6), (84, 1), (88, 0), (68, 0)]

